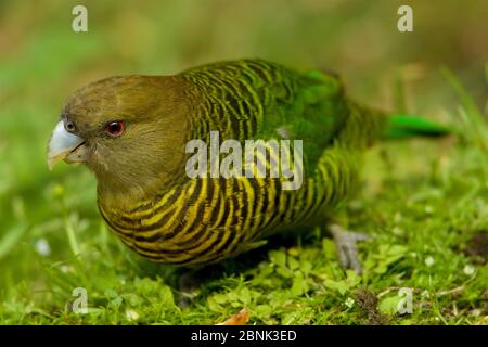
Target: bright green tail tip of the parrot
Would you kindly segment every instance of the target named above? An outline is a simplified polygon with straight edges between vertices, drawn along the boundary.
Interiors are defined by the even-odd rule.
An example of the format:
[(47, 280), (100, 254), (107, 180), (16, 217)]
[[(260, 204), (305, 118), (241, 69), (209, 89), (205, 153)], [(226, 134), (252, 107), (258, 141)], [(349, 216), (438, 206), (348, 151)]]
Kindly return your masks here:
[(384, 139), (404, 139), (411, 137), (437, 138), (452, 131), (432, 120), (410, 115), (391, 115), (387, 118)]

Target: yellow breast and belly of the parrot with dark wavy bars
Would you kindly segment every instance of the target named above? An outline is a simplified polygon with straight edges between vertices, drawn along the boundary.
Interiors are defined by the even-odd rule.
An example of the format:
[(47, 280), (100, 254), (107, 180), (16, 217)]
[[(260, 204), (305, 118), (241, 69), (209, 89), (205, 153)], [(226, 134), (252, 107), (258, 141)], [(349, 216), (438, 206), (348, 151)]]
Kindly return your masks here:
[(322, 158), (298, 190), (279, 179), (196, 178), (131, 210), (111, 210), (99, 198), (102, 217), (130, 248), (154, 261), (177, 266), (217, 262), (291, 227), (306, 224), (344, 198), (356, 172)]

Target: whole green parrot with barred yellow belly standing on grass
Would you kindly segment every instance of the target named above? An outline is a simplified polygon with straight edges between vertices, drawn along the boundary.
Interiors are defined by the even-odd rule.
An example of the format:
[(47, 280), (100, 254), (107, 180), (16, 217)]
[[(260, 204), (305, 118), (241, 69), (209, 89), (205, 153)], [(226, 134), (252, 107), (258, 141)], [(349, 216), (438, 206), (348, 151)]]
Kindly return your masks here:
[[(284, 189), (283, 177), (189, 177), (189, 141), (209, 143), (213, 132), (219, 143), (243, 146), (300, 140), (300, 187)], [(157, 262), (200, 267), (273, 233), (326, 226), (357, 190), (363, 153), (376, 140), (447, 132), (351, 101), (335, 75), (239, 60), (79, 89), (62, 110), (48, 162), (82, 163), (94, 172), (100, 214), (128, 247)], [(275, 159), (273, 151), (257, 156), (265, 168)], [(337, 224), (330, 231), (341, 264), (359, 272), (356, 242), (364, 236)]]

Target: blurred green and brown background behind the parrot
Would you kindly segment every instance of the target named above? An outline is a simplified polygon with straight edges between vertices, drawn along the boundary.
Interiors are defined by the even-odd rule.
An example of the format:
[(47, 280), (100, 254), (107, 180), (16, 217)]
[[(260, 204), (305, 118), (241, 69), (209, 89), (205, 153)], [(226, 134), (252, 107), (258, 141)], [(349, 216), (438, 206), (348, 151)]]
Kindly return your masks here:
[[(88, 33), (72, 30), (76, 4), (88, 9)], [(397, 30), (400, 4), (413, 8), (413, 33)], [(262, 57), (337, 72), (357, 100), (449, 121), (458, 100), (441, 66), (486, 110), (487, 13), (485, 0), (1, 0), (0, 301), (10, 314), (42, 307), (46, 265), (72, 257), (66, 230), (89, 240), (75, 245), (81, 252), (115, 244), (99, 234), (88, 170), (46, 165), (50, 132), (75, 89), (111, 75)], [(412, 146), (402, 167), (425, 164), (409, 162), (423, 149)], [(15, 308), (20, 293), (34, 294)]]

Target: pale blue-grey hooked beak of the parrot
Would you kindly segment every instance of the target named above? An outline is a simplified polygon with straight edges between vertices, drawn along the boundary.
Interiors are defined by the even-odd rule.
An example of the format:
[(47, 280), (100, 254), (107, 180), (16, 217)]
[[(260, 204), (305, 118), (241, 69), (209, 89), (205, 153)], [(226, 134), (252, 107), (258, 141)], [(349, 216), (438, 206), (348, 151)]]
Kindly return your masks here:
[(66, 131), (63, 120), (56, 124), (48, 146), (48, 166), (52, 170), (61, 160), (66, 163), (85, 163), (87, 159), (85, 139)]

